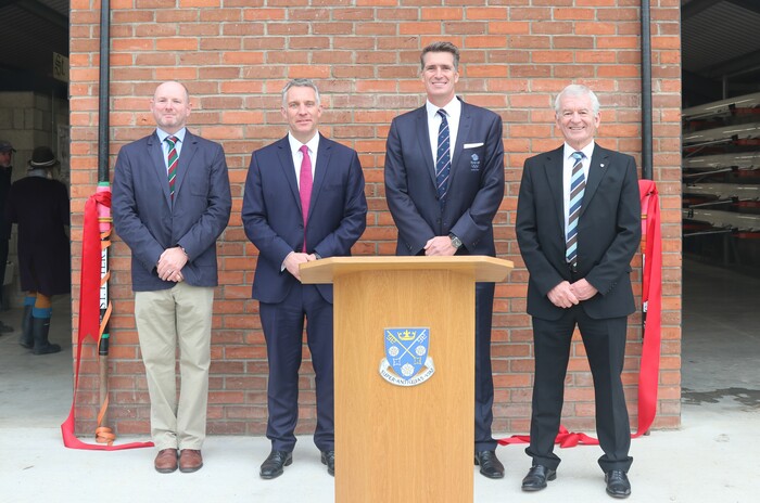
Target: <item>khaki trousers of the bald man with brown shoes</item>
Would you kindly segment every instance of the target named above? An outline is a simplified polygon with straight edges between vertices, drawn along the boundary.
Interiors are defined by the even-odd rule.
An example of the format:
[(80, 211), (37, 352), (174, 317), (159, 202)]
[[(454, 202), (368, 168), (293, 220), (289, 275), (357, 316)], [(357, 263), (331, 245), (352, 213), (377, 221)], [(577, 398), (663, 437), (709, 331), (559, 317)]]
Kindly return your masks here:
[(200, 450), (205, 439), (213, 305), (213, 287), (185, 282), (135, 294), (135, 321), (151, 398), (151, 436), (159, 450)]

